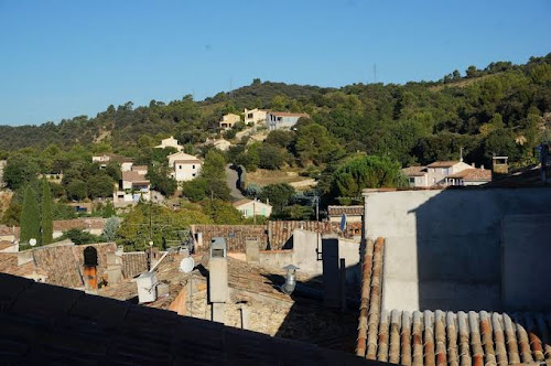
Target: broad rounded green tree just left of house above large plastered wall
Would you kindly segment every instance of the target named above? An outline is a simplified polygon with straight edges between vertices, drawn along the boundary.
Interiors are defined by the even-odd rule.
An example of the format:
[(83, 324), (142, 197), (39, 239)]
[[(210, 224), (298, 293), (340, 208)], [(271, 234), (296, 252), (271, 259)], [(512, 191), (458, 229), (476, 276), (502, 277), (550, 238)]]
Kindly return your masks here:
[(359, 198), (364, 189), (399, 187), (407, 184), (400, 163), (388, 157), (358, 155), (333, 175), (334, 198)]

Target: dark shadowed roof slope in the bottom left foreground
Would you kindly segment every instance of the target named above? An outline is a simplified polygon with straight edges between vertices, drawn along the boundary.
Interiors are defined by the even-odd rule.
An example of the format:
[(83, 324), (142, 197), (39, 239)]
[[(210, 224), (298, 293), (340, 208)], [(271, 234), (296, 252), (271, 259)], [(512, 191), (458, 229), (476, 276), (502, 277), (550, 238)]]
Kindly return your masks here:
[(9, 365), (365, 365), (354, 355), (0, 273)]

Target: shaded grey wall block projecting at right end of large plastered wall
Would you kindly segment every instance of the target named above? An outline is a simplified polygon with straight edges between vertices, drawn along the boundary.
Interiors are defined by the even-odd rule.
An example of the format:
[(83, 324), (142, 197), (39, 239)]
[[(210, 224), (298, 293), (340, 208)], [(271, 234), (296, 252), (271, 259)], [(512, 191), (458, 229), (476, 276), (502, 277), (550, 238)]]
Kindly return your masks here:
[(515, 310), (551, 310), (551, 215), (506, 216), (503, 295)]

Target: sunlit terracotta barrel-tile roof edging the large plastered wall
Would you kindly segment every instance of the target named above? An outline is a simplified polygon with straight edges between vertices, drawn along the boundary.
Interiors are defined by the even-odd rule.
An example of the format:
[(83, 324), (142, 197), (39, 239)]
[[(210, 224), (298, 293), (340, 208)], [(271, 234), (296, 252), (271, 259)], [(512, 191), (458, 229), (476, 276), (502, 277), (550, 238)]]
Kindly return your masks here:
[(368, 240), (356, 354), (413, 366), (551, 365), (551, 314), (381, 312), (385, 240)]

